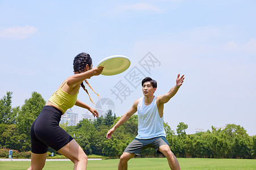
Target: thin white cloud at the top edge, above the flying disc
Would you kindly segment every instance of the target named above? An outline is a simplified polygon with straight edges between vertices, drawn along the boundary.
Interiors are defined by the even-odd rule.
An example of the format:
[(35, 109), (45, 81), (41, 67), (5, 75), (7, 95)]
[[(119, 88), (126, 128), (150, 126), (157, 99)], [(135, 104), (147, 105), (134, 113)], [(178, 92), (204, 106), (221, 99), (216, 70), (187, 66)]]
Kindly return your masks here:
[(131, 5), (122, 5), (119, 6), (119, 10), (121, 11), (129, 11), (129, 10), (136, 10), (136, 11), (155, 11), (160, 12), (162, 11), (160, 8), (148, 5), (146, 3), (135, 3)]

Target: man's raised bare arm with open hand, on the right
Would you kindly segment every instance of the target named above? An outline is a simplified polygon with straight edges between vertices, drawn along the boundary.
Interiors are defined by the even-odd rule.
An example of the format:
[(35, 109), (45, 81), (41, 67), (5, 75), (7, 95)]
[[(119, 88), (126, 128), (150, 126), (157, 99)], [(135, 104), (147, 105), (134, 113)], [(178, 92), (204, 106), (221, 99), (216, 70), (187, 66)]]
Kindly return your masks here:
[(167, 103), (171, 99), (171, 97), (173, 97), (177, 93), (183, 81), (184, 81), (184, 75), (180, 77), (180, 74), (178, 74), (176, 79), (176, 85), (172, 87), (167, 94), (159, 96), (160, 103), (162, 104)]

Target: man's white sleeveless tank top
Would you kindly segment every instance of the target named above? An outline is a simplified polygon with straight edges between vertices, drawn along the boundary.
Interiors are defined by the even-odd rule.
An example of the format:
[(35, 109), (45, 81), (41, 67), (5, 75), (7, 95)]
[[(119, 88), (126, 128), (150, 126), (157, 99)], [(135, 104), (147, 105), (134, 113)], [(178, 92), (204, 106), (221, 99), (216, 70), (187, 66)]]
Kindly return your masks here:
[(150, 105), (144, 104), (144, 97), (139, 99), (138, 107), (138, 139), (151, 139), (155, 137), (166, 137), (163, 127), (163, 117), (159, 116), (156, 105), (156, 96)]

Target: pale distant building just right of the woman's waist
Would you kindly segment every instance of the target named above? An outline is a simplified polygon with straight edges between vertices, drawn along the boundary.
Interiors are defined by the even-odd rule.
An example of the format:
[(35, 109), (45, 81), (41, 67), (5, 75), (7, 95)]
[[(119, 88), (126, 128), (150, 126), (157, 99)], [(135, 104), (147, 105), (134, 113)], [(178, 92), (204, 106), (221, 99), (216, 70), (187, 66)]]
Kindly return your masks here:
[(72, 109), (68, 109), (60, 118), (60, 124), (67, 124), (67, 126), (76, 126), (78, 121), (78, 114), (73, 113)]

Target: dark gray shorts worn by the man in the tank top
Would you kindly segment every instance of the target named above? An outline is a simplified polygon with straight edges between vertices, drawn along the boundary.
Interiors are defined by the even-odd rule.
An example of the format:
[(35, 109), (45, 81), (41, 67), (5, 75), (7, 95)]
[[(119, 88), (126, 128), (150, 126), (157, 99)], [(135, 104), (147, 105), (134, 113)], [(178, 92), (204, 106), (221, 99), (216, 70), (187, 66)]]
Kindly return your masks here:
[(169, 145), (165, 137), (155, 137), (151, 139), (137, 139), (135, 138), (126, 148), (125, 151), (130, 154), (135, 154), (140, 156), (141, 151), (148, 147), (152, 147), (158, 152), (158, 149), (162, 145)]

